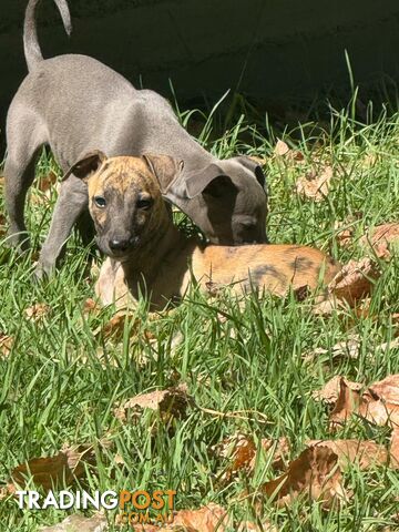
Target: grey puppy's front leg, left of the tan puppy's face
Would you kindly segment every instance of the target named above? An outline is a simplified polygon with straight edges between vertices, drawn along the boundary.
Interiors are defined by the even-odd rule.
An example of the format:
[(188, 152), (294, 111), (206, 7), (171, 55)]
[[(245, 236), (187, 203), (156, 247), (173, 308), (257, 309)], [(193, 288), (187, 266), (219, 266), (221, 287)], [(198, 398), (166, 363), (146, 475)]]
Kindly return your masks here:
[(50, 232), (35, 268), (35, 276), (39, 279), (43, 275), (50, 275), (55, 268), (72, 227), (85, 208), (88, 208), (88, 186), (82, 180), (70, 175), (61, 183)]

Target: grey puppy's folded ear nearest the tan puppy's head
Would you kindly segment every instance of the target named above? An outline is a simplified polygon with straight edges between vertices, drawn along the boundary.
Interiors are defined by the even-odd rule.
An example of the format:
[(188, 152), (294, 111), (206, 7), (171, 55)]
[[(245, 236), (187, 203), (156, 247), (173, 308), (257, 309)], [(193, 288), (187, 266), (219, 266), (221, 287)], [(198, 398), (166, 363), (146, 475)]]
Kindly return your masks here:
[(198, 194), (221, 197), (236, 192), (237, 187), (226, 173), (215, 163), (211, 163), (198, 172), (191, 172), (185, 180), (187, 196), (192, 200)]

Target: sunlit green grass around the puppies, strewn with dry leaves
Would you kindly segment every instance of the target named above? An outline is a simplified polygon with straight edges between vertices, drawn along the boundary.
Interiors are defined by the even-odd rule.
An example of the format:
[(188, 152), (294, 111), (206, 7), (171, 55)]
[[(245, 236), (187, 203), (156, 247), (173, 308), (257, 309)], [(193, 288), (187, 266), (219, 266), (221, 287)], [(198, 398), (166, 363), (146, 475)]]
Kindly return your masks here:
[[(190, 125), (194, 115), (185, 113), (182, 120)], [(331, 112), (328, 131), (308, 123), (280, 133), (285, 142), (305, 154), (300, 164), (273, 156), (276, 135), (267, 122), (259, 127), (241, 117), (223, 137), (211, 141), (209, 120), (201, 139), (221, 157), (236, 153), (266, 157), (273, 242), (318, 246), (346, 262), (364, 256), (357, 238), (366, 227), (398, 221), (399, 209), (399, 114), (381, 115), (369, 125), (350, 116), (350, 111)], [(321, 163), (335, 172), (327, 200), (313, 203), (299, 198), (295, 181)], [(51, 158), (43, 156), (38, 174), (50, 168)], [(32, 196), (42, 194), (33, 191)], [(50, 201), (29, 202), (28, 219), (35, 245), (47, 234), (54, 200), (52, 192)], [(355, 227), (355, 238), (342, 249), (335, 224), (346, 221)], [(186, 221), (182, 224), (187, 225)], [(331, 437), (328, 411), (311, 398), (314, 390), (339, 374), (369, 383), (399, 372), (398, 349), (375, 354), (375, 347), (391, 340), (395, 332), (389, 317), (399, 313), (398, 256), (381, 265), (383, 273), (371, 300), (375, 319), (357, 318), (350, 310), (344, 313), (347, 320), (342, 316), (316, 317), (310, 301), (298, 304), (293, 297), (278, 300), (253, 295), (238, 306), (228, 294), (206, 300), (193, 291), (173, 313), (151, 321), (143, 301), (137, 309), (139, 331), (131, 335), (132, 321), (126, 321), (122, 340), (110, 341), (95, 331), (112, 317), (113, 309), (83, 315), (84, 300), (93, 297), (94, 280), (86, 268), (88, 252), (78, 238), (71, 237), (63, 267), (45, 286), (32, 282), (31, 254), (17, 257), (3, 245), (0, 249), (0, 330), (14, 337), (12, 352), (0, 357), (3, 482), (27, 459), (55, 454), (64, 442), (90, 443), (96, 452), (96, 467), (85, 484), (90, 490), (175, 489), (177, 509), (216, 502), (239, 521), (250, 518), (250, 510), (236, 502), (237, 495), (248, 483), (255, 488), (276, 473), (265, 459), (253, 479), (242, 475), (222, 487), (217, 477), (224, 463), (212, 453), (212, 446), (236, 431), (256, 440), (287, 437), (290, 458), (295, 458), (305, 448), (305, 440)], [(51, 308), (42, 323), (24, 315), (35, 303)], [(219, 311), (227, 319), (221, 320)], [(156, 340), (151, 341), (145, 330)], [(334, 359), (331, 347), (349, 334), (361, 338), (359, 357)], [(327, 354), (306, 361), (304, 354), (318, 347), (326, 348)], [(153, 416), (143, 416), (137, 424), (115, 419), (117, 402), (181, 381), (187, 383), (200, 407), (219, 412), (257, 411), (267, 422), (256, 413), (247, 419), (223, 418), (194, 407), (186, 419), (175, 421), (173, 432)], [(154, 422), (155, 434), (151, 432)], [(108, 449), (100, 444), (105, 437), (112, 440)], [(336, 437), (374, 438), (383, 443), (389, 431), (351, 420)], [(115, 454), (123, 458), (124, 466), (115, 463)], [(345, 484), (352, 497), (339, 510), (325, 512), (308, 501), (279, 510), (268, 503), (265, 518), (280, 531), (395, 526), (399, 495), (395, 472), (385, 468), (359, 472), (354, 466), (345, 474)], [(20, 511), (12, 499), (0, 502), (1, 531), (35, 531), (64, 518), (65, 512), (55, 510)]]

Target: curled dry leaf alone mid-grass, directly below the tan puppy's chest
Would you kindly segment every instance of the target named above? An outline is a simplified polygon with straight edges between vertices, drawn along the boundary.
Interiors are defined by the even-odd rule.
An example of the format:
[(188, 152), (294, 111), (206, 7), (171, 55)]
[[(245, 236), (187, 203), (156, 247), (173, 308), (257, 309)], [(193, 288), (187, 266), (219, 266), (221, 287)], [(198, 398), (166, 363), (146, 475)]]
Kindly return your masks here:
[(187, 393), (187, 386), (181, 383), (175, 388), (166, 390), (155, 390), (150, 393), (141, 393), (132, 397), (121, 407), (115, 409), (115, 417), (122, 422), (127, 419), (139, 419), (143, 410), (150, 409), (160, 412), (164, 421), (170, 418), (184, 418), (187, 407), (192, 403), (192, 398)]

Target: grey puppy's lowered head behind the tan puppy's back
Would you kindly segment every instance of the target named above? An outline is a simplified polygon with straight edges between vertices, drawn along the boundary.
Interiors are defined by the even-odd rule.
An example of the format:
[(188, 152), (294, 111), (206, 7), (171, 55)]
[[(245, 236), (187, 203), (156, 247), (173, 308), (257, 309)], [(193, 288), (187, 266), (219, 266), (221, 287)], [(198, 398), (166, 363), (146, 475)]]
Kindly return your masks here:
[[(173, 186), (171, 186), (173, 185)], [(184, 170), (165, 197), (180, 205), (212, 244), (267, 243), (265, 175), (249, 157), (215, 160)], [(188, 202), (182, 203), (182, 198)]]

